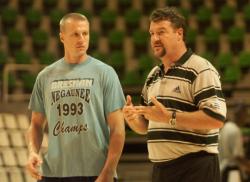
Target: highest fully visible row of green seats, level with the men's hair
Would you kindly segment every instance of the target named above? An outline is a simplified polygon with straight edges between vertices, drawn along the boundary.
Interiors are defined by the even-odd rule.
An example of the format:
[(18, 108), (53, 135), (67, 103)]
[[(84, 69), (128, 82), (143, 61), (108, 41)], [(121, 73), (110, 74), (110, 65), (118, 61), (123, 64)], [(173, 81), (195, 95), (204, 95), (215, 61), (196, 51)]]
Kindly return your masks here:
[[(163, 7), (163, 6), (162, 6)], [(182, 14), (187, 18), (189, 26), (195, 26), (200, 33), (203, 33), (206, 27), (216, 26), (223, 32), (228, 32), (229, 27), (239, 25), (249, 30), (248, 22), (250, 21), (250, 4), (244, 7), (244, 11), (237, 12), (232, 6), (224, 5), (221, 12), (218, 14), (211, 8), (201, 6), (197, 13), (190, 14), (189, 9), (180, 8)], [(148, 23), (149, 14), (144, 15), (138, 8), (125, 9), (125, 14), (119, 14), (117, 10), (103, 8), (100, 15), (92, 15), (91, 11), (78, 9), (76, 12), (86, 14), (89, 18), (94, 30), (98, 30), (103, 35), (107, 35), (107, 30), (118, 28), (126, 31), (130, 35), (130, 28), (146, 28), (143, 23)], [(18, 11), (14, 7), (4, 7), (2, 9), (1, 23), (2, 31), (7, 34), (7, 30), (11, 28), (26, 29), (27, 35), (32, 34), (32, 31), (40, 27), (45, 28), (51, 35), (57, 35), (58, 22), (60, 18), (67, 13), (67, 10), (53, 9), (49, 16), (42, 14), (37, 8), (31, 8), (25, 15), (18, 15)], [(11, 17), (11, 18), (10, 18)], [(144, 21), (146, 20), (146, 22)], [(20, 25), (19, 22), (23, 22)], [(133, 29), (132, 29), (133, 30)]]

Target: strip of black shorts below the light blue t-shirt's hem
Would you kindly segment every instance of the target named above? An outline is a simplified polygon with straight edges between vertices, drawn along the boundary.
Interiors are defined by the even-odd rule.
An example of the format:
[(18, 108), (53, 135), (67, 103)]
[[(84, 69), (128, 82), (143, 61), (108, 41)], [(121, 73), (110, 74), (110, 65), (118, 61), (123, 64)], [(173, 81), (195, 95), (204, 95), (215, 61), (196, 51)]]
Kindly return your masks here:
[[(97, 176), (89, 177), (64, 177), (64, 178), (54, 178), (54, 177), (42, 177), (42, 180), (37, 182), (95, 182)], [(114, 182), (117, 182), (117, 179), (114, 178)]]

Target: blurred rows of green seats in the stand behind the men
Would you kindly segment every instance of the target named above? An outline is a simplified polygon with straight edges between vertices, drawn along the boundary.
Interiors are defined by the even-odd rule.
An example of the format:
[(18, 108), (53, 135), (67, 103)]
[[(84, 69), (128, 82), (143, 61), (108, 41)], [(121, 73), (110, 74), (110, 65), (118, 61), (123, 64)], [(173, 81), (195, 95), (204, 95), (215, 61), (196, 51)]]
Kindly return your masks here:
[[(47, 3), (46, 0), (27, 1), (29, 3), (24, 6), (24, 9), (21, 8), (21, 5), (26, 1), (3, 2), (5, 3), (1, 6), (3, 8), (0, 10), (2, 15), (0, 23), (5, 23), (5, 14), (11, 13), (9, 10), (12, 9), (15, 11), (13, 13), (14, 11), (11, 10), (15, 16), (6, 15), (6, 17), (12, 17), (10, 19), (14, 23), (10, 23), (9, 28), (15, 29), (5, 31), (8, 26), (0, 27), (0, 33), (3, 34), (0, 37), (0, 64), (2, 65), (9, 63), (47, 65), (61, 57), (63, 47), (53, 31), (56, 30), (56, 33), (58, 33), (58, 21), (65, 12), (76, 10), (86, 14), (91, 21), (89, 53), (112, 65), (119, 73), (119, 78), (124, 87), (142, 86), (149, 70), (158, 63), (150, 52), (149, 12), (145, 13), (144, 10), (175, 5), (188, 18), (188, 46), (196, 53), (211, 60), (219, 69), (223, 82), (240, 82), (246, 70), (250, 67), (250, 59), (248, 59), (250, 34), (247, 31), (247, 25), (250, 23), (245, 22), (248, 19), (247, 9), (250, 9), (247, 8), (250, 6), (249, 1), (62, 0), (59, 3), (58, 0), (55, 0), (51, 9), (49, 4), (44, 6), (43, 3)], [(75, 5), (76, 9), (72, 9), (72, 2), (80, 4)], [(123, 11), (120, 11), (120, 4), (123, 4)], [(244, 7), (239, 8), (243, 4)], [(228, 13), (230, 11), (233, 13)], [(222, 23), (221, 14), (225, 14), (225, 16), (235, 15), (232, 16), (233, 23), (229, 23), (231, 28), (226, 28), (228, 30), (226, 32), (222, 30), (226, 26)], [(32, 26), (35, 25), (32, 33), (32, 28), (28, 26), (29, 23), (27, 22), (37, 21), (37, 19), (39, 19), (38, 24), (31, 23)], [(129, 19), (132, 26), (129, 26)], [(0, 67), (0, 78), (2, 78), (2, 72), (3, 67)], [(33, 88), (36, 74), (36, 72), (30, 73), (28, 71), (11, 72), (9, 74), (10, 93), (21, 91), (29, 94)]]

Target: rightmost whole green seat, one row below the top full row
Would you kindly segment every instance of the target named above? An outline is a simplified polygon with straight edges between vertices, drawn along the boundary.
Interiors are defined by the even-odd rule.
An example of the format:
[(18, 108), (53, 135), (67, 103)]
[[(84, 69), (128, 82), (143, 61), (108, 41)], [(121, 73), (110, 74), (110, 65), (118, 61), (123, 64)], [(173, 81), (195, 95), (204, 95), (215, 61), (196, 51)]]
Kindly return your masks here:
[(245, 30), (242, 27), (232, 26), (228, 30), (228, 41), (230, 49), (234, 54), (238, 54), (244, 45)]

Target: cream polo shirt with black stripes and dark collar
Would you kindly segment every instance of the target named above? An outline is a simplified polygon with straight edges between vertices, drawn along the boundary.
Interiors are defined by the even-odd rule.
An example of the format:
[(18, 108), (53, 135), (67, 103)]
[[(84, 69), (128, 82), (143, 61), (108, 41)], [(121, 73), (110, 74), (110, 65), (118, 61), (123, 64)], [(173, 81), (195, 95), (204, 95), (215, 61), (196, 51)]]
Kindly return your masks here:
[[(221, 121), (226, 118), (226, 102), (218, 72), (191, 49), (166, 73), (163, 64), (151, 70), (142, 90), (141, 104), (152, 105), (152, 96), (168, 110), (176, 110), (177, 115), (178, 112), (203, 110)], [(219, 129), (173, 128), (168, 122), (150, 120), (147, 135), (149, 159), (164, 162), (192, 152), (218, 153), (218, 135)]]

